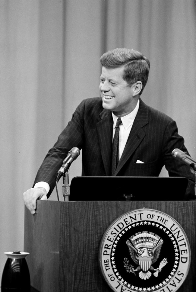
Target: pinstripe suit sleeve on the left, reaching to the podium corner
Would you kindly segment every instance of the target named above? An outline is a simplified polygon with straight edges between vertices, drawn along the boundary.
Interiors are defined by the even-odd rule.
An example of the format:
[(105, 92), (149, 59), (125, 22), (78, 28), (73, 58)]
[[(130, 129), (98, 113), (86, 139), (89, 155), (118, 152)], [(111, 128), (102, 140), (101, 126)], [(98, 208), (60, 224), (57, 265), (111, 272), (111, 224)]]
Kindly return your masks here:
[(61, 167), (63, 160), (68, 154), (68, 151), (77, 147), (79, 149), (83, 146), (83, 136), (84, 136), (84, 125), (83, 125), (83, 113), (84, 113), (85, 102), (82, 101), (81, 104), (76, 108), (71, 121), (68, 123), (67, 127), (58, 136), (57, 142), (49, 150), (42, 165), (40, 166), (34, 185), (39, 181), (46, 181), (50, 186), (50, 191), (47, 197), (52, 193), (58, 169)]

